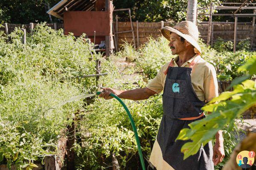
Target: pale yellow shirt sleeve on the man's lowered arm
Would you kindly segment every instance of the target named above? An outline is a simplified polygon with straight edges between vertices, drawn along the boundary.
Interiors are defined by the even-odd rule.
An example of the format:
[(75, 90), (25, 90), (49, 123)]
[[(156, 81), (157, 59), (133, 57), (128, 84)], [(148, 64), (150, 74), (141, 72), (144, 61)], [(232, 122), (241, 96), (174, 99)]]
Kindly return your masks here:
[(208, 75), (206, 76), (203, 82), (204, 95), (206, 102), (212, 100), (212, 98), (218, 97), (218, 81), (216, 76), (215, 68), (211, 65), (207, 71)]

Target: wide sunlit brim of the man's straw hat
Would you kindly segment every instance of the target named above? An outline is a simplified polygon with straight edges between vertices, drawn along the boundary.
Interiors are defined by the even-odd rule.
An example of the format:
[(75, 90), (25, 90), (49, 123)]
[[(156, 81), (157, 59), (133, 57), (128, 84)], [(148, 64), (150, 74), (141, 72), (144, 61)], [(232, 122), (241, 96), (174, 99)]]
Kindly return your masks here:
[(194, 46), (194, 48), (196, 48), (198, 50), (198, 52), (200, 52), (200, 54), (202, 53), (201, 48), (200, 48), (199, 44), (197, 43), (197, 40), (195, 40), (190, 35), (183, 34), (182, 32), (179, 32), (177, 29), (174, 29), (170, 26), (165, 26), (164, 28), (161, 29), (162, 35), (169, 41), (170, 41), (170, 37), (171, 37), (171, 32), (183, 37), (185, 40), (187, 40), (189, 43), (191, 43), (191, 45)]

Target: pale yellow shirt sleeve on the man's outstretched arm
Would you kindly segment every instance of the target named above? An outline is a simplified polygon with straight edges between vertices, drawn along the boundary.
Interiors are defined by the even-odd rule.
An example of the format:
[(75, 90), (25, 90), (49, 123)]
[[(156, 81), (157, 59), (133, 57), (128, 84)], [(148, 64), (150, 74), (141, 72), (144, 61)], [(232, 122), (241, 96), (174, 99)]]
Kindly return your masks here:
[(161, 74), (162, 73), (162, 69), (160, 69), (157, 72), (157, 75), (155, 78), (153, 78), (148, 84), (147, 84), (147, 88), (150, 90), (153, 90), (156, 93), (160, 93), (163, 90), (163, 85), (162, 85), (162, 80), (161, 80)]

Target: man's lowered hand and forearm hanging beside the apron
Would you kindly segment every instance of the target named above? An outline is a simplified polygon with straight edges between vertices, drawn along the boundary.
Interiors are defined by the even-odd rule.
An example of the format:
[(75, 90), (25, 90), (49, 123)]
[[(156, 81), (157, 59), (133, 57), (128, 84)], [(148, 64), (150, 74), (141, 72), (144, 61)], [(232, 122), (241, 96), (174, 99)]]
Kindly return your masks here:
[(222, 132), (218, 131), (218, 133), (216, 133), (215, 137), (216, 137), (216, 143), (213, 147), (212, 161), (213, 161), (214, 165), (218, 165), (220, 162), (223, 161), (223, 158), (225, 156)]

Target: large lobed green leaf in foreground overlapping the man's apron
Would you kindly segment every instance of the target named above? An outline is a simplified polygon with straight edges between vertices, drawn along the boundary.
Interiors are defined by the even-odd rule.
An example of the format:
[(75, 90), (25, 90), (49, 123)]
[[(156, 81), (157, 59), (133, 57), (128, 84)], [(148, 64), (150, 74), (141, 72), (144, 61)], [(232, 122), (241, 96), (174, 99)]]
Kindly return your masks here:
[(196, 154), (201, 145), (207, 144), (218, 130), (226, 125), (229, 124), (228, 130), (231, 130), (235, 118), (256, 104), (254, 84), (254, 81), (246, 80), (242, 84), (235, 85), (233, 92), (224, 92), (214, 98), (202, 108), (204, 111), (212, 112), (210, 115), (192, 122), (188, 125), (189, 129), (185, 128), (180, 131), (176, 140), (188, 140), (181, 148), (184, 159)]

